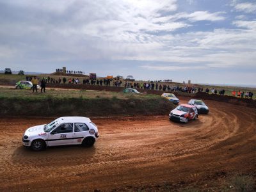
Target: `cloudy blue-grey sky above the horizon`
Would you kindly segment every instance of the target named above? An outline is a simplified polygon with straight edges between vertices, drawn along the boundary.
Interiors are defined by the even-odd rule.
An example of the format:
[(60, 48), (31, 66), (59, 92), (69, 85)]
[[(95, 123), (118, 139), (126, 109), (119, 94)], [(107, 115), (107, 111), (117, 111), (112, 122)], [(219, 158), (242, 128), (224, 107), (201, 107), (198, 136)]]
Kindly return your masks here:
[(256, 84), (256, 1), (0, 0), (0, 68)]

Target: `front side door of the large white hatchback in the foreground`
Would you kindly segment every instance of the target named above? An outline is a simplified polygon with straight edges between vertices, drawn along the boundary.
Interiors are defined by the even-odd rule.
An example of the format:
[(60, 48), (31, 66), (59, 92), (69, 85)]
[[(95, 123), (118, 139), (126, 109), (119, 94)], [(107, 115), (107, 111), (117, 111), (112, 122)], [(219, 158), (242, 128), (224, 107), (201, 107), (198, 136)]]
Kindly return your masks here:
[(48, 145), (70, 145), (74, 139), (74, 125), (72, 123), (60, 124), (48, 134)]

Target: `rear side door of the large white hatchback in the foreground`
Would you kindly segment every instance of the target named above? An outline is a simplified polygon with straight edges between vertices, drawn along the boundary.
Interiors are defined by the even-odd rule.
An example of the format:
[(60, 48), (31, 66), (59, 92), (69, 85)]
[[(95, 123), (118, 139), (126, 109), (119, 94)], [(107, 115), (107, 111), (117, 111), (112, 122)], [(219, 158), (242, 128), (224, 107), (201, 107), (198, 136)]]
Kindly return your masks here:
[(89, 135), (89, 127), (84, 123), (74, 124), (74, 144), (82, 143), (83, 138)]

